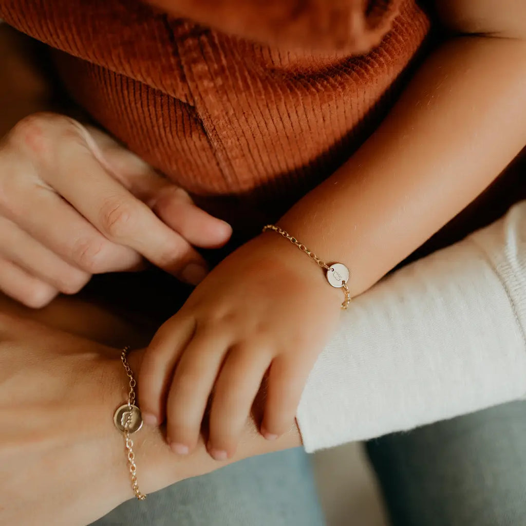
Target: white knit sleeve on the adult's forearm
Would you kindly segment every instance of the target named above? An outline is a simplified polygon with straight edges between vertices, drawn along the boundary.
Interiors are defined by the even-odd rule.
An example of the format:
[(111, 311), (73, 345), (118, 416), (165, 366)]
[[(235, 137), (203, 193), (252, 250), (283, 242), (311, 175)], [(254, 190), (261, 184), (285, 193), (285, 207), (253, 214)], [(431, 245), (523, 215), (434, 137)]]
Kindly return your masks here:
[(526, 201), (356, 298), (297, 412), (309, 452), (526, 393)]

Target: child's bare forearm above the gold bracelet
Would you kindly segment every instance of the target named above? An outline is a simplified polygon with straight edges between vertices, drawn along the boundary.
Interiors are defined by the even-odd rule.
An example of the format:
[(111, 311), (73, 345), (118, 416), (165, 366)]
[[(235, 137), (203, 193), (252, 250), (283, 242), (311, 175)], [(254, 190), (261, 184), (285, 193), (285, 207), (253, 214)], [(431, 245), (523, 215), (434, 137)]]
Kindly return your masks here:
[(280, 224), (368, 289), (470, 203), (526, 143), (526, 43), (459, 37), (380, 128)]

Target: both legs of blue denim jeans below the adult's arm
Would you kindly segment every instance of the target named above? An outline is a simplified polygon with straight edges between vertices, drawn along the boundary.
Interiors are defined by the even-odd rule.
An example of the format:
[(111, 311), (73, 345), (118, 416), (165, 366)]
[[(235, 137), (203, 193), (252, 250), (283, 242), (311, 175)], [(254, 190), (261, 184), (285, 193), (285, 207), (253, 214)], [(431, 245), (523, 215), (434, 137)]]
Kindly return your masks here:
[[(369, 441), (366, 448), (392, 526), (526, 524), (524, 401), (393, 433)], [(185, 480), (149, 495), (145, 502), (130, 500), (94, 523), (121, 524), (322, 526), (325, 522), (309, 458), (297, 448)]]

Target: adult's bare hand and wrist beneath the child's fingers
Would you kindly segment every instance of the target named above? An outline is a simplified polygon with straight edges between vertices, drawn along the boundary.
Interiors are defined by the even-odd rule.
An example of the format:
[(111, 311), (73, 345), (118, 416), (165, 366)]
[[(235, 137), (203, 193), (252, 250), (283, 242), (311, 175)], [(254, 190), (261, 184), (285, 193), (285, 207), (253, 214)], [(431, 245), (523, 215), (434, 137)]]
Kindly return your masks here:
[[(79, 328), (100, 343), (73, 335)], [(126, 376), (119, 348), (104, 343), (141, 339), (112, 313), (74, 298), (35, 311), (0, 294), (1, 526), (83, 525), (133, 497), (123, 437), (112, 421), (126, 400)], [(130, 353), (135, 372), (142, 354)], [(244, 423), (231, 461), (301, 443), (296, 428), (274, 442), (263, 439), (260, 407)], [(181, 458), (159, 428), (145, 426), (133, 439), (146, 493), (218, 467), (202, 440)]]

